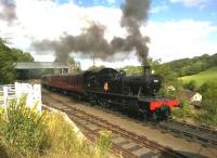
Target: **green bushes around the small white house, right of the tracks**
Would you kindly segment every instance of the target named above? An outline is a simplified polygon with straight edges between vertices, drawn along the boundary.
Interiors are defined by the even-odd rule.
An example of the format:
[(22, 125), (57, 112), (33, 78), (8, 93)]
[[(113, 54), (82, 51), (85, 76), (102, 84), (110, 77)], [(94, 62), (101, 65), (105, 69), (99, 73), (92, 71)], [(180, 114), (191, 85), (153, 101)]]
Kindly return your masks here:
[(182, 107), (173, 110), (173, 115), (181, 120), (217, 126), (217, 83), (215, 81), (208, 81), (201, 87), (194, 85), (193, 88), (194, 91), (200, 92), (203, 96), (201, 108), (195, 109), (190, 106), (190, 103), (182, 100)]

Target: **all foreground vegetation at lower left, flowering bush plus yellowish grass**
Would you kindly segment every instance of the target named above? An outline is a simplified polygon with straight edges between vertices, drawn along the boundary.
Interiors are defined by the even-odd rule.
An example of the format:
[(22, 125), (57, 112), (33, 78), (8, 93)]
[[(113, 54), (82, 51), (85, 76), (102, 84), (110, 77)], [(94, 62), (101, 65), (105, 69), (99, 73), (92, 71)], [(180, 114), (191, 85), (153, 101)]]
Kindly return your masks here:
[(101, 131), (95, 143), (79, 137), (61, 113), (26, 107), (26, 100), (0, 108), (0, 157), (106, 158), (111, 133)]

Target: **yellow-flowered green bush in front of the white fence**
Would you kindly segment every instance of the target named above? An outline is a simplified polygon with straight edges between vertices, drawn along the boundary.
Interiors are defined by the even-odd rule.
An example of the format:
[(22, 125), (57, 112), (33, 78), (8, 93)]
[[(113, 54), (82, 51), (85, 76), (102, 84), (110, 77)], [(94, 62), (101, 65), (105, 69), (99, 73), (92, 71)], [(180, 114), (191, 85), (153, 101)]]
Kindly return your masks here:
[(1, 111), (0, 141), (11, 150), (8, 153), (11, 157), (36, 157), (43, 152), (47, 141), (43, 117), (36, 108), (26, 107), (26, 97), (12, 101), (7, 110)]

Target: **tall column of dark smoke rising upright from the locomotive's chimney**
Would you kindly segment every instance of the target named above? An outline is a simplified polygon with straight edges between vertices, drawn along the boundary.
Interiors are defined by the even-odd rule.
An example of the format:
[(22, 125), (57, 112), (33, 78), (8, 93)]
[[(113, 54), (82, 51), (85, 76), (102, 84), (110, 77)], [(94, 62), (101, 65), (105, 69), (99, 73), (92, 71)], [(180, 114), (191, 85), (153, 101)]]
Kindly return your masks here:
[(130, 40), (129, 43), (133, 45), (139, 60), (143, 64), (146, 64), (149, 53), (146, 42), (149, 42), (149, 38), (142, 37), (140, 26), (148, 18), (149, 9), (149, 0), (126, 0), (126, 3), (122, 6), (122, 26), (126, 27), (129, 34), (126, 40)]

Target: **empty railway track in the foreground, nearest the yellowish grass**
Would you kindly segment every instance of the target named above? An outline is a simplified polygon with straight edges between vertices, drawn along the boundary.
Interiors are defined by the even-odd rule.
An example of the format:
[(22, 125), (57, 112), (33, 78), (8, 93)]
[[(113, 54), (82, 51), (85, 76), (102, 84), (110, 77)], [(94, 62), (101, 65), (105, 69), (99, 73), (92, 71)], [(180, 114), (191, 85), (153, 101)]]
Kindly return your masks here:
[(138, 135), (133, 132), (122, 129), (118, 126), (112, 124), (106, 120), (99, 118), (94, 115), (87, 114), (78, 108), (72, 107), (69, 103), (64, 102), (53, 96), (47, 101), (54, 101), (53, 108), (60, 109), (68, 115), (68, 117), (77, 123), (80, 130), (89, 140), (95, 140), (100, 130), (108, 130), (112, 132), (112, 150), (122, 153), (126, 158), (143, 158), (143, 157), (161, 157), (161, 158), (184, 158), (178, 152), (171, 148), (164, 147), (156, 142), (148, 140), (145, 136)]

